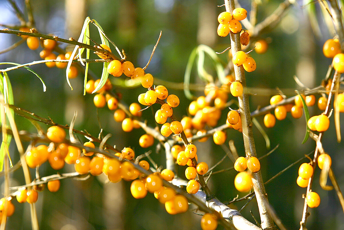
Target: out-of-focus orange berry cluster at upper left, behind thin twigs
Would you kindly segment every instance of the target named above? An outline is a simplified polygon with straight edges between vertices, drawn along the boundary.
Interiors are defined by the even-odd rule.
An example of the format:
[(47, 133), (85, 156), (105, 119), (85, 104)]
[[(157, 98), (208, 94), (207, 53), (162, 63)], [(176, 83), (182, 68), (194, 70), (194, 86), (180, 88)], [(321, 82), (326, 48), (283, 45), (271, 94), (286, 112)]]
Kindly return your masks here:
[[(24, 32), (30, 32), (30, 29), (28, 27), (22, 27), (19, 29), (20, 31)], [(51, 39), (45, 39), (42, 42), (37, 37), (32, 37), (28, 35), (21, 35), (22, 39), (26, 39), (26, 44), (31, 50), (36, 50), (39, 48), (40, 44), (43, 46), (43, 50), (40, 52), (40, 57), (44, 60), (68, 60), (72, 52), (66, 52), (65, 54), (58, 54), (56, 56), (55, 53), (53, 53), (57, 42), (55, 40)], [(59, 69), (64, 69), (67, 67), (67, 62), (46, 62), (45, 63), (47, 67), (57, 67)], [(78, 76), (78, 69), (76, 66), (71, 65), (68, 71), (68, 77), (69, 78), (75, 78)]]

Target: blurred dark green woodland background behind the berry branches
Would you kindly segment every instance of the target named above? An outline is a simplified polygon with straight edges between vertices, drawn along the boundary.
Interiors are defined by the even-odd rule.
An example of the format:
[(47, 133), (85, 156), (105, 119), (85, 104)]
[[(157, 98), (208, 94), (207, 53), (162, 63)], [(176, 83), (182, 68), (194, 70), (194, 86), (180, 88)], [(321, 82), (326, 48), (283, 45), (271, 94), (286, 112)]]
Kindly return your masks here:
[[(19, 8), (25, 12), (24, 1), (16, 1)], [(51, 33), (61, 38), (78, 38), (82, 24), (86, 16), (96, 19), (103, 27), (105, 33), (119, 47), (124, 49), (127, 60), (135, 66), (146, 65), (155, 42), (158, 39), (160, 30), (162, 37), (155, 51), (152, 61), (146, 72), (154, 76), (154, 84), (159, 80), (170, 82), (165, 86), (170, 94), (179, 96), (181, 103), (174, 113), (181, 119), (186, 115), (187, 106), (191, 102), (183, 93), (182, 89), (176, 90), (173, 83), (183, 82), (184, 71), (191, 51), (199, 44), (206, 44), (215, 51), (221, 52), (229, 46), (229, 38), (221, 38), (216, 34), (218, 25), (217, 15), (224, 11), (223, 1), (211, 0), (65, 0), (65, 1), (39, 1), (33, 0), (32, 8), (36, 22), (36, 29), (42, 33)], [(282, 1), (262, 0), (256, 1), (257, 22), (270, 15)], [(240, 1), (242, 7), (248, 11), (251, 8), (250, 1)], [(312, 28), (309, 20), (309, 7), (307, 2), (296, 1), (287, 11), (281, 23), (266, 33), (262, 33), (259, 39), (266, 39), (269, 42), (267, 53), (259, 55), (254, 51), (252, 57), (257, 62), (257, 70), (247, 73), (247, 86), (250, 87), (251, 111), (258, 106), (266, 106), (272, 95), (278, 93), (278, 87), (287, 96), (295, 95), (294, 90), (301, 90), (293, 80), (296, 75), (307, 87), (312, 88), (320, 85), (325, 77), (330, 59), (322, 54), (322, 45), (333, 37), (333, 28), (328, 29), (326, 20), (322, 18), (321, 9), (318, 3), (311, 3), (318, 15), (318, 31)], [(14, 10), (6, 0), (0, 0), (0, 23), (18, 25), (19, 21)], [(91, 38), (100, 43), (98, 32), (91, 26)], [(314, 32), (315, 31), (315, 32)], [(0, 34), (1, 50), (18, 41), (15, 35)], [(258, 39), (258, 38), (257, 38)], [(250, 43), (248, 48), (253, 47)], [(59, 44), (65, 48), (65, 44)], [(72, 50), (73, 47), (66, 47)], [(114, 49), (113, 49), (114, 50)], [(39, 50), (32, 51), (26, 44), (20, 45), (15, 50), (0, 55), (0, 62), (28, 63), (40, 60)], [(115, 53), (115, 52), (114, 52)], [(226, 65), (228, 51), (218, 55)], [(206, 59), (207, 60), (207, 59)], [(209, 60), (207, 60), (209, 61)], [(90, 70), (100, 78), (102, 64), (93, 63), (89, 65)], [(14, 104), (18, 107), (28, 109), (39, 116), (47, 118), (50, 116), (53, 121), (59, 124), (69, 124), (74, 111), (78, 116), (75, 128), (86, 129), (93, 136), (100, 132), (97, 122), (97, 109), (93, 105), (93, 96), (83, 96), (83, 76), (79, 74), (76, 79), (71, 80), (74, 88), (70, 90), (66, 83), (65, 71), (57, 68), (49, 69), (44, 64), (32, 66), (40, 74), (47, 86), (46, 92), (42, 91), (42, 85), (32, 73), (25, 70), (9, 72), (13, 86)], [(195, 70), (195, 66), (194, 66)], [(197, 77), (196, 71), (192, 72), (192, 82), (205, 85)], [(207, 66), (210, 74), (214, 70)], [(110, 79), (116, 83), (114, 78)], [(123, 77), (122, 77), (123, 79)], [(155, 84), (156, 85), (156, 84)], [(122, 102), (130, 105), (137, 102), (137, 96), (145, 92), (141, 86), (126, 88), (115, 86), (114, 92), (123, 95)], [(196, 96), (203, 95), (203, 91), (193, 91)], [(319, 95), (316, 95), (319, 98)], [(231, 96), (229, 99), (232, 99)], [(159, 109), (158, 105), (153, 106), (154, 111)], [(219, 124), (224, 124), (228, 110), (225, 109)], [(99, 109), (99, 120), (103, 133), (111, 133), (108, 140), (111, 145), (118, 149), (131, 146), (136, 154), (143, 154), (147, 149), (138, 145), (139, 137), (144, 134), (141, 129), (131, 133), (121, 130), (121, 124), (113, 119), (113, 113), (107, 108)], [(321, 111), (316, 106), (310, 108), (310, 115), (319, 115)], [(27, 120), (16, 116), (19, 129), (36, 132), (34, 126)], [(151, 111), (143, 112), (143, 119), (154, 126)], [(262, 117), (257, 118), (262, 124)], [(323, 138), (323, 147), (332, 157), (332, 167), (340, 186), (343, 186), (343, 144), (336, 142), (336, 135), (333, 125), (333, 117), (330, 118), (330, 129)], [(343, 123), (343, 116), (341, 123)], [(47, 126), (42, 125), (44, 129)], [(301, 144), (305, 135), (306, 122), (304, 115), (300, 119), (293, 119), (290, 114), (283, 121), (277, 121), (276, 126), (271, 129), (264, 127), (267, 132), (271, 147), (279, 144), (279, 147), (270, 156), (261, 161), (261, 171), (264, 180), (268, 180), (279, 171), (310, 153), (315, 148), (311, 139)], [(343, 132), (342, 132), (343, 134)], [(266, 148), (265, 140), (254, 127), (257, 154), (263, 156), (270, 149)], [(80, 140), (87, 140), (80, 136)], [(240, 156), (244, 156), (243, 137), (236, 130), (227, 131), (227, 140), (233, 139)], [(228, 143), (226, 141), (226, 143)], [(23, 143), (27, 146), (29, 143)], [(155, 153), (155, 145), (152, 158), (158, 165), (165, 167), (164, 150)], [(227, 144), (228, 145), (228, 144)], [(225, 152), (222, 148), (215, 146), (209, 139), (205, 143), (196, 143), (200, 149), (198, 158), (206, 161), (211, 167), (220, 160)], [(14, 143), (11, 144), (11, 157), (14, 163), (19, 160), (18, 151)], [(302, 162), (307, 162), (304, 160)], [(301, 164), (301, 163), (300, 163)], [(287, 229), (299, 229), (302, 218), (303, 199), (302, 194), (305, 188), (296, 184), (297, 170), (300, 164), (292, 167), (284, 174), (266, 185), (271, 206), (275, 209), (284, 226)], [(217, 169), (227, 168), (233, 163), (227, 158)], [(74, 171), (74, 167), (67, 165), (60, 172)], [(179, 168), (181, 177), (184, 174), (184, 167)], [(40, 167), (40, 175), (47, 176), (55, 174), (49, 164), (45, 163)], [(307, 221), (308, 229), (343, 229), (343, 210), (338, 201), (335, 191), (322, 190), (319, 185), (319, 169), (315, 172), (313, 191), (319, 193), (321, 204), (318, 208), (309, 209), (310, 217)], [(34, 170), (32, 170), (34, 175)], [(209, 186), (216, 197), (225, 202), (232, 200), (237, 195), (234, 188), (234, 170), (212, 176)], [(1, 178), (3, 192), (3, 178)], [(121, 181), (117, 184), (107, 183), (105, 176), (90, 177), (86, 181), (65, 179), (61, 181), (61, 189), (52, 194), (44, 190), (39, 193), (39, 200), (36, 203), (37, 215), (41, 229), (200, 229), (200, 216), (194, 215), (196, 207), (190, 206), (189, 211), (175, 216), (169, 215), (164, 206), (161, 205), (152, 194), (148, 194), (142, 200), (134, 199), (129, 191), (130, 182)], [(11, 186), (25, 184), (22, 170), (11, 174)], [(243, 196), (244, 194), (239, 194)], [(8, 219), (7, 229), (30, 229), (30, 209), (27, 203), (19, 204), (13, 201), (15, 213)], [(246, 201), (235, 203), (234, 208), (240, 209)], [(251, 222), (255, 222), (250, 214), (259, 221), (259, 212), (256, 200), (253, 199), (241, 213)], [(218, 229), (222, 229), (221, 226)]]

